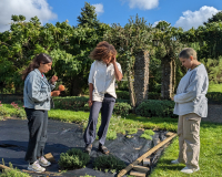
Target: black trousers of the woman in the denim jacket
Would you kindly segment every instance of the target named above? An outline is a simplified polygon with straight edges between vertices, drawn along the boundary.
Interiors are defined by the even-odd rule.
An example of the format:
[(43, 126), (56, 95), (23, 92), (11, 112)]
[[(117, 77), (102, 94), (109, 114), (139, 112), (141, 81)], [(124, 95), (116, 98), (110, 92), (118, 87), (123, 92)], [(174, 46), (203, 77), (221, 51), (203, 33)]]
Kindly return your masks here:
[(29, 127), (29, 144), (24, 159), (34, 163), (43, 156), (47, 142), (48, 111), (24, 108)]

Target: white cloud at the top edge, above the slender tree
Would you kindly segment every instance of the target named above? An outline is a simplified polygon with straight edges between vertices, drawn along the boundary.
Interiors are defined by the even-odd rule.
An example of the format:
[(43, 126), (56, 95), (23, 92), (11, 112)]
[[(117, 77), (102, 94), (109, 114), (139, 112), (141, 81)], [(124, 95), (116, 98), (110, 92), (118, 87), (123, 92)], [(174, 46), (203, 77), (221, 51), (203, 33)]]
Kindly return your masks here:
[(127, 0), (131, 9), (139, 8), (141, 10), (150, 10), (158, 8), (159, 0)]

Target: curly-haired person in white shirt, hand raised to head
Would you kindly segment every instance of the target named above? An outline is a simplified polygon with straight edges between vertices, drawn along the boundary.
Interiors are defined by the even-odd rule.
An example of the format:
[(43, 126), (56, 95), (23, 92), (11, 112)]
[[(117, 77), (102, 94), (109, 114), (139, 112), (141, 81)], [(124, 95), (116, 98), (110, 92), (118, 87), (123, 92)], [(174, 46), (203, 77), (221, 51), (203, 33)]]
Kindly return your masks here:
[(115, 80), (122, 80), (121, 65), (115, 59), (117, 51), (113, 45), (105, 41), (98, 43), (97, 48), (90, 53), (90, 58), (94, 60), (89, 74), (90, 90), (90, 116), (87, 129), (84, 132), (85, 152), (91, 153), (92, 143), (97, 136), (97, 123), (99, 112), (101, 110), (101, 125), (98, 132), (99, 148), (103, 154), (109, 154), (104, 146), (110, 118), (114, 107)]

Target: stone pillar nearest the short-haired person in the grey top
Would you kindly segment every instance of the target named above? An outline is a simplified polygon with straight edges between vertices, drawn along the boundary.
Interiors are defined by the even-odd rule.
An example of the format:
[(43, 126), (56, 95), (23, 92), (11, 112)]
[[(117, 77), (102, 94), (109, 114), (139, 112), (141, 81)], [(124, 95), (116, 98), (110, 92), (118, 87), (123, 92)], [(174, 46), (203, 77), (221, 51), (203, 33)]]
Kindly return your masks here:
[(162, 81), (161, 81), (161, 97), (170, 100), (173, 93), (173, 62), (169, 55), (165, 55), (161, 62)]

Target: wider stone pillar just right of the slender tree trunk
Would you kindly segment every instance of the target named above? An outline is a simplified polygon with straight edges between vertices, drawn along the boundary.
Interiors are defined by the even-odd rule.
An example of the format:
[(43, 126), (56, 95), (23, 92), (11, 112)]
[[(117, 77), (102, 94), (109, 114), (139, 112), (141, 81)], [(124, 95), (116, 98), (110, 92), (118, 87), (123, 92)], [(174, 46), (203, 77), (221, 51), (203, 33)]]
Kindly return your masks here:
[(134, 92), (137, 106), (142, 101), (148, 100), (149, 90), (149, 64), (150, 56), (148, 51), (139, 51), (135, 55), (134, 64)]

